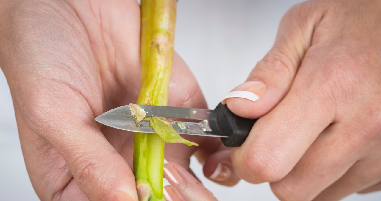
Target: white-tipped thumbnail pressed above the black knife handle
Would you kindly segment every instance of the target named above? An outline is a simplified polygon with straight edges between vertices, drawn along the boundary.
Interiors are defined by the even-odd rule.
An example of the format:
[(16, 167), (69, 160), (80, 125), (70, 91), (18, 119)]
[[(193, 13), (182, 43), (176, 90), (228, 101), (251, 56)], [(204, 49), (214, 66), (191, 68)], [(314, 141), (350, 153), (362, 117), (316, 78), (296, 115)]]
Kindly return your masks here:
[(256, 101), (265, 93), (266, 85), (263, 82), (249, 81), (235, 87), (221, 102), (225, 104), (228, 98), (246, 98), (251, 101)]

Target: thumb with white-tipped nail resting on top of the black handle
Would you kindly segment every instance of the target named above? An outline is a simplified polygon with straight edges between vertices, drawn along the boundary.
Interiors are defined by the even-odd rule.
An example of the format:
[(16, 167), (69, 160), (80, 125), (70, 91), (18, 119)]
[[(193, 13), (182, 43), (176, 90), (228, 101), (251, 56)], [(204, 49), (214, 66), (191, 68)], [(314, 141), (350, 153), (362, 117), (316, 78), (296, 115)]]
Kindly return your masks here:
[(245, 118), (258, 118), (274, 108), (290, 89), (319, 19), (311, 3), (289, 10), (280, 23), (274, 47), (251, 71), (246, 82), (234, 88), (223, 103)]

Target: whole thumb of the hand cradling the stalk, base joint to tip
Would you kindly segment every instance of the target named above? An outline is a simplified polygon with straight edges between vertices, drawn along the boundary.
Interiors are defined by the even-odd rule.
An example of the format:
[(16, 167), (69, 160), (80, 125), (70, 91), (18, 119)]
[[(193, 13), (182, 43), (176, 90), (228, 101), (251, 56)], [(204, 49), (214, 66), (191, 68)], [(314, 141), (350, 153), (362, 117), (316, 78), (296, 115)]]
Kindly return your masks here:
[(88, 199), (137, 201), (130, 167), (99, 130), (83, 96), (59, 83), (50, 82), (50, 86), (62, 89), (65, 96), (30, 96), (26, 111), (32, 130), (58, 150)]

